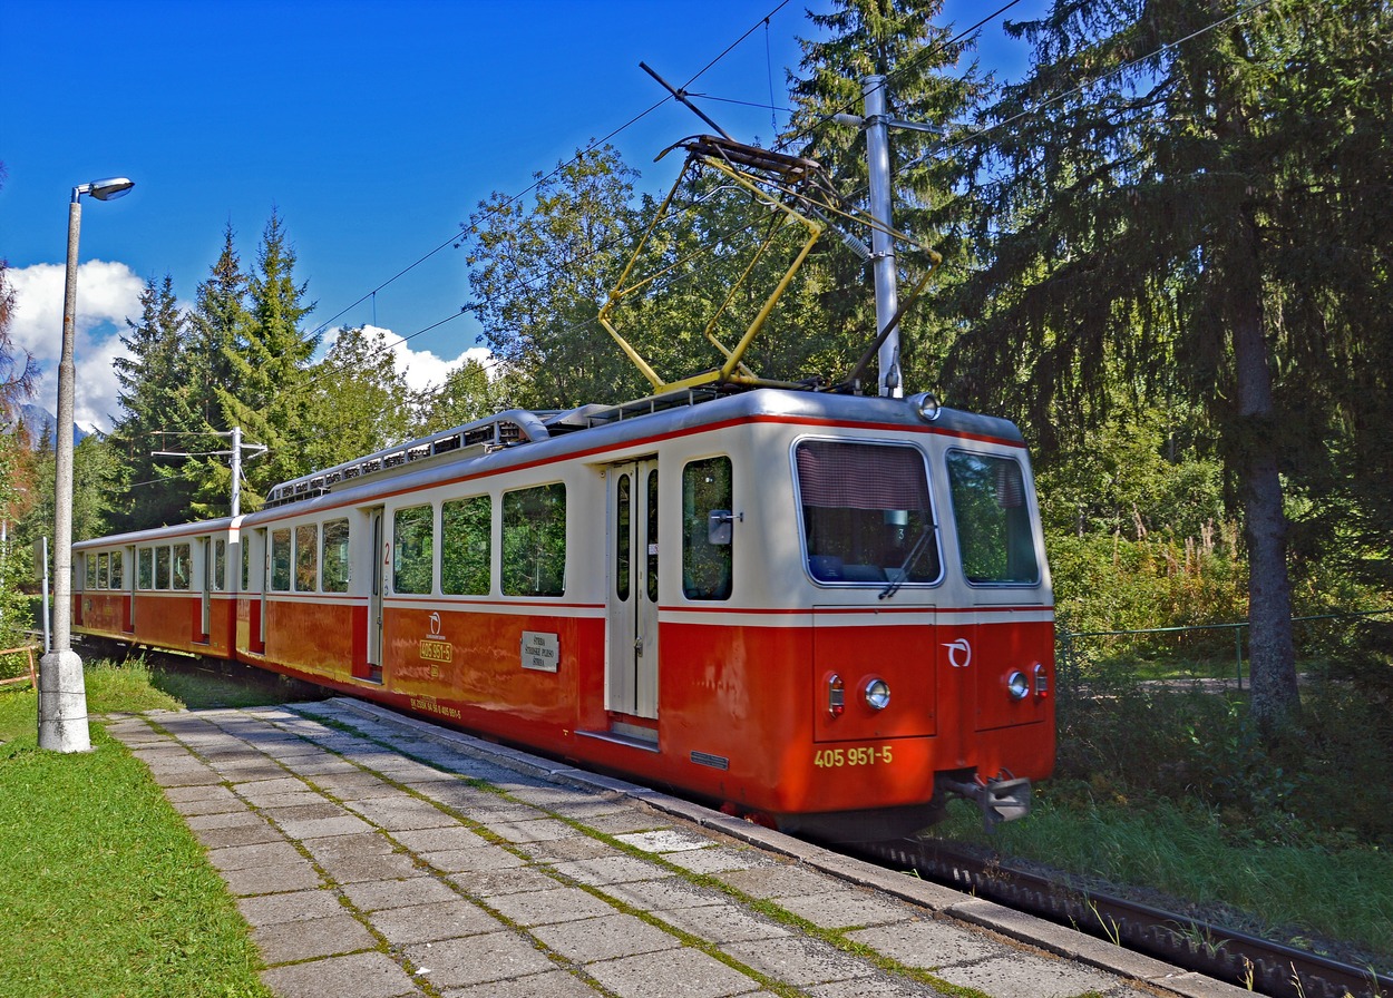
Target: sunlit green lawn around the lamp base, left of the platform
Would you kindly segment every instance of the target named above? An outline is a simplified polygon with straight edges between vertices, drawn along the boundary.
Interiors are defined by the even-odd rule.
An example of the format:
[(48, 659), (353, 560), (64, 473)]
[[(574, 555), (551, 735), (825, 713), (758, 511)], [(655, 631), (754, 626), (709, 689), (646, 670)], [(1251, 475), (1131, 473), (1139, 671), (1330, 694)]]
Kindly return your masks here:
[[(141, 661), (86, 670), (91, 714), (206, 706), (233, 686)], [(32, 689), (0, 692), (0, 994), (269, 998), (247, 923), (145, 766), (96, 722), (92, 752), (42, 752), (36, 711)]]

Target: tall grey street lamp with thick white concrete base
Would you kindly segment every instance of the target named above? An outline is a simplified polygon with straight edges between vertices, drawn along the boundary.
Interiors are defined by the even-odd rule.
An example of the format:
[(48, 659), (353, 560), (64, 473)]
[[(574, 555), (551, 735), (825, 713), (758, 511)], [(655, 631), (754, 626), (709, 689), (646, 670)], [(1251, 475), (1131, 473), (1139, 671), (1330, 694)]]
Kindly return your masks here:
[(53, 647), (40, 660), (39, 747), (54, 752), (88, 752), (86, 686), (82, 660), (72, 650), (72, 322), (78, 306), (78, 231), (82, 195), (114, 200), (134, 181), (125, 177), (95, 180), (72, 188), (68, 205), (68, 270), (63, 285), (63, 355), (59, 358), (59, 425), (53, 473)]

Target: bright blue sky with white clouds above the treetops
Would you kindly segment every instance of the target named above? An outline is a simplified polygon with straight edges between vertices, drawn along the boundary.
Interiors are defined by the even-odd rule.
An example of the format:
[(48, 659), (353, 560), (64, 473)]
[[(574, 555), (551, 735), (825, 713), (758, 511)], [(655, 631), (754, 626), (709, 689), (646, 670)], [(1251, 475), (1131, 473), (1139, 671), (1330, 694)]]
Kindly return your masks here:
[[(72, 187), (111, 175), (137, 187), (121, 200), (82, 200), (81, 425), (109, 429), (117, 412), (117, 333), (139, 315), (145, 280), (170, 274), (191, 303), (224, 228), (251, 267), (272, 210), (318, 303), (309, 324), (341, 312), (333, 326), (411, 337), (398, 363), (418, 386), (439, 383), (478, 348), (478, 326), (465, 316), (414, 334), (468, 299), (462, 251), (447, 245), (352, 303), (449, 244), (490, 192), (522, 192), (634, 118), (612, 142), (645, 189), (666, 188), (674, 164), (653, 156), (708, 129), (671, 100), (649, 111), (666, 92), (639, 61), (684, 85), (715, 60), (694, 93), (784, 107), (786, 68), (812, 33), (804, 11), (829, 4), (779, 1), (4, 4), (0, 256), (17, 291), (15, 340), (45, 366), (35, 401), (54, 408)], [(967, 26), (1006, 3), (949, 0), (944, 19)], [(1043, 6), (1022, 0), (1009, 17)], [(997, 19), (978, 57), (1010, 74), (1025, 49)], [(749, 142), (770, 139), (772, 116), (784, 121), (768, 107), (702, 106)]]

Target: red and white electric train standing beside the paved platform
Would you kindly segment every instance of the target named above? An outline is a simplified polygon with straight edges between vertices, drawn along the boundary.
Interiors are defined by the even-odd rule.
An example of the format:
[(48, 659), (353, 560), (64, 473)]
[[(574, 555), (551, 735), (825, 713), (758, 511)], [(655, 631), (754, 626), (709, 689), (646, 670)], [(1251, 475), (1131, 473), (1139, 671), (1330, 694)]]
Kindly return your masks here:
[(74, 631), (231, 658), (833, 839), (1055, 760), (1053, 597), (1010, 422), (690, 390), (504, 412), (74, 546)]

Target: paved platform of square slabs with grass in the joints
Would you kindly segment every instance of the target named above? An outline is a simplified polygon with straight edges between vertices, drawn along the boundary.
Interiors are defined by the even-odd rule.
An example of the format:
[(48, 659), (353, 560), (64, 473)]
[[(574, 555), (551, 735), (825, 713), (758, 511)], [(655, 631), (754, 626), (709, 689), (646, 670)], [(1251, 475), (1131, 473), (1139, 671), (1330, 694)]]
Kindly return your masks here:
[(283, 998), (1240, 992), (350, 699), (120, 715)]

